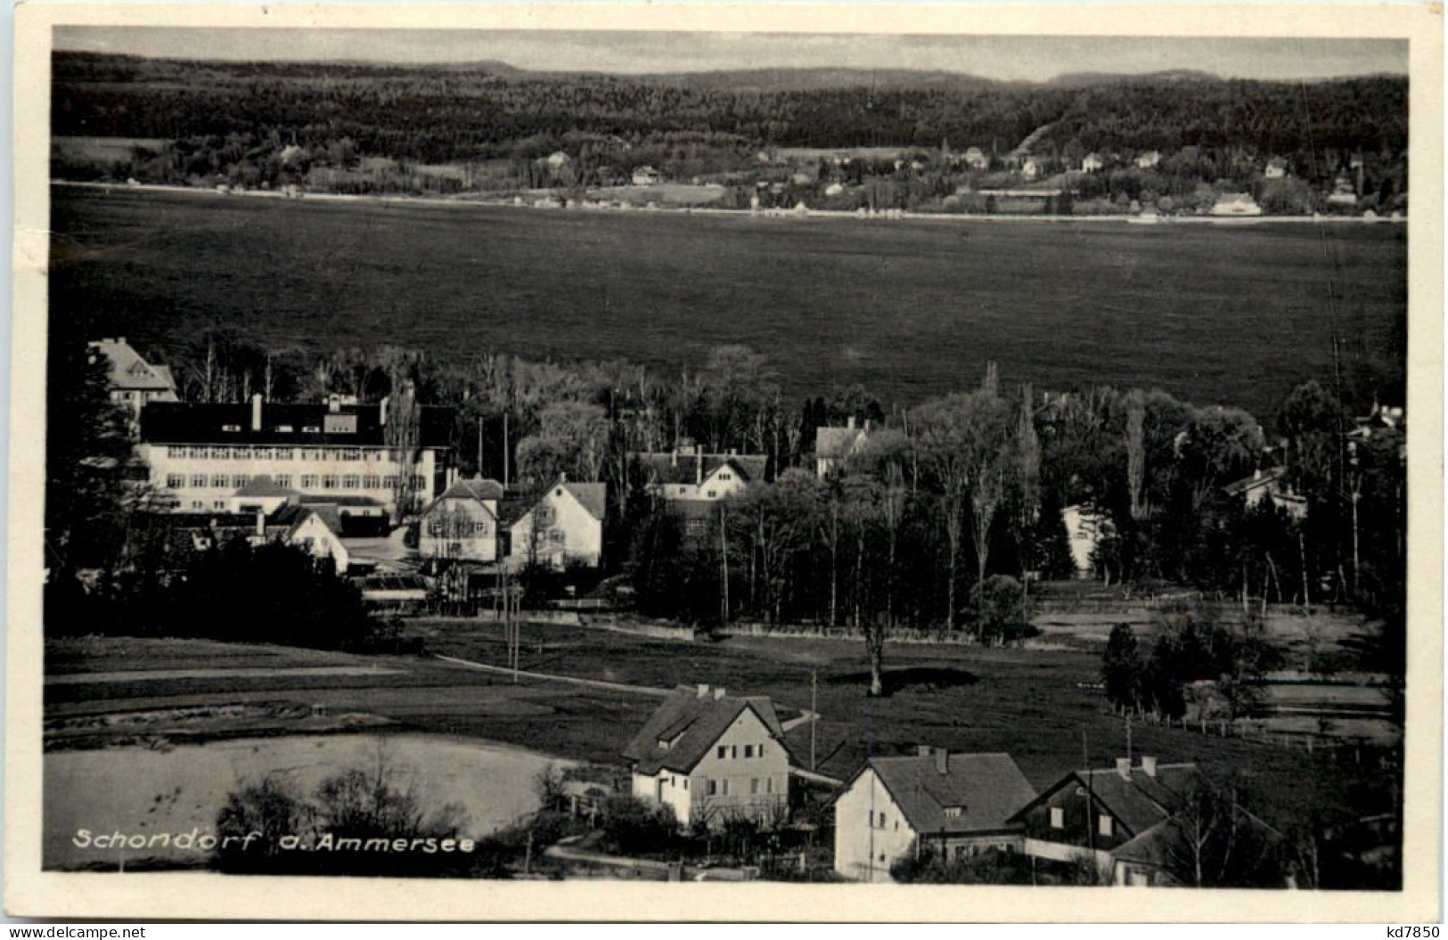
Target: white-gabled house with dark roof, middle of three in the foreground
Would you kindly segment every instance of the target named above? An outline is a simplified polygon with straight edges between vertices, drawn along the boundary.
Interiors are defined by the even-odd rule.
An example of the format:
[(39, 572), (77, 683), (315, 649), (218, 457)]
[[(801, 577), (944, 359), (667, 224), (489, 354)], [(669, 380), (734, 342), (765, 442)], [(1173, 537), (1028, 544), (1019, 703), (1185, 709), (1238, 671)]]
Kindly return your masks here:
[(870, 758), (834, 801), (834, 870), (853, 881), (889, 882), (891, 866), (927, 852), (964, 859), (988, 849), (1019, 852), (1011, 815), (1035, 798), (1009, 755)]

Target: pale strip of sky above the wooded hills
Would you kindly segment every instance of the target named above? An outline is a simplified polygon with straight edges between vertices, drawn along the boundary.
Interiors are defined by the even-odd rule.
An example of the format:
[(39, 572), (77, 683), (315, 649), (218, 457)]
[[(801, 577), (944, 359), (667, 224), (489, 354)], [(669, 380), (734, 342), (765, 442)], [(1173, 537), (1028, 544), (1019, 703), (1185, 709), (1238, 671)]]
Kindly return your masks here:
[(1266, 80), (1407, 74), (1407, 43), (1396, 39), (64, 26), (55, 48), (191, 59), (500, 61), (617, 74), (821, 67), (943, 70), (1003, 81), (1176, 68)]

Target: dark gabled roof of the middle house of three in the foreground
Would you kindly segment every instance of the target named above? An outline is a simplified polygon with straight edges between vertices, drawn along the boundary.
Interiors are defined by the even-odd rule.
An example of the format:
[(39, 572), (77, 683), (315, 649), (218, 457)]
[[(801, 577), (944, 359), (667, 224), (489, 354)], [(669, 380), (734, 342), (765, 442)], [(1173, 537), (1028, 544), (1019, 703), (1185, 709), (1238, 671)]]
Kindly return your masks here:
[(1006, 828), (1011, 815), (1035, 800), (1035, 788), (1005, 753), (950, 755), (944, 773), (934, 755), (872, 758), (866, 768), (875, 771), (911, 828), (922, 834)]

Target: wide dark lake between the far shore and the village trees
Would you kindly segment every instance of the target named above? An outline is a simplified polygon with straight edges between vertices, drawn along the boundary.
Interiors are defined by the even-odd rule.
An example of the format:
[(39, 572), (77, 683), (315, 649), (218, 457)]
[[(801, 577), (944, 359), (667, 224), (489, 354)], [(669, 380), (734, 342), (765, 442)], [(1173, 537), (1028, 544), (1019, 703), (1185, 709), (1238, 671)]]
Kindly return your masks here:
[(56, 335), (698, 364), (889, 404), (1009, 381), (1161, 387), (1267, 420), (1297, 382), (1400, 400), (1406, 230), (752, 219), (52, 187)]

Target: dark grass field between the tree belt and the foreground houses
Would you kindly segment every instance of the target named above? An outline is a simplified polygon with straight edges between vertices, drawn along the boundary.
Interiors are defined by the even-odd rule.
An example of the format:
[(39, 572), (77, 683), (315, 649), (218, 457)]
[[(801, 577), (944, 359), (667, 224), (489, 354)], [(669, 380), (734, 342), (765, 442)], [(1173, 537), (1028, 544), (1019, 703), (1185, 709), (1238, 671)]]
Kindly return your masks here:
[[(411, 627), (429, 649), (484, 663), (504, 660), (500, 627), (475, 621), (421, 621)], [(65, 675), (172, 671), (197, 662), (219, 645), (195, 640), (71, 640), (51, 645), (49, 665)], [(232, 679), (138, 676), (85, 685), (49, 685), (46, 724), (52, 739), (83, 720), (110, 718), (83, 746), (138, 744), (148, 740), (206, 742), (245, 733), (268, 733), (256, 721), (232, 733), (216, 726), (188, 727), (184, 710), (206, 705), (256, 705), (281, 716), (271, 734), (317, 733), (292, 723), (282, 705), (329, 714), (368, 714), (385, 724), (363, 724), (366, 733), (426, 733), (517, 744), (575, 760), (617, 763), (618, 753), (657, 704), (657, 698), (585, 689), (556, 682), (507, 678), (450, 666), (434, 659), (363, 659), (279, 647), (255, 650), (278, 666), (376, 662), (388, 672), (359, 675), (255, 675)], [(319, 659), (320, 658), (320, 659)], [(237, 659), (236, 662), (248, 662)], [(990, 650), (979, 647), (892, 646), (888, 682), (892, 694), (872, 700), (859, 643), (835, 640), (733, 639), (721, 643), (650, 640), (637, 636), (559, 626), (529, 626), (521, 666), (555, 675), (672, 687), (723, 685), (741, 694), (772, 695), (780, 705), (811, 705), (811, 676), (818, 682), (817, 727), (820, 772), (847, 776), (867, 753), (902, 753), (915, 744), (953, 750), (1008, 752), (1041, 788), (1079, 766), (1083, 752), (1106, 766), (1125, 752), (1124, 724), (1082, 682), (1099, 678), (1099, 655), (1085, 650)], [(172, 717), (164, 716), (171, 710)], [(138, 713), (162, 716), (145, 733), (122, 723)], [(148, 737), (149, 736), (149, 737)], [(58, 742), (56, 742), (58, 743)], [(799, 763), (809, 763), (809, 727), (795, 729), (789, 744)], [(70, 746), (70, 744), (64, 744)], [(1135, 727), (1134, 752), (1164, 760), (1200, 760), (1216, 772), (1242, 771), (1279, 818), (1303, 818), (1309, 808), (1352, 808), (1367, 813), (1354, 778), (1370, 768), (1339, 762), (1344, 755), (1203, 737), (1164, 727)], [(1351, 762), (1351, 755), (1347, 756)], [(1386, 794), (1386, 788), (1380, 788)], [(1371, 800), (1370, 800), (1371, 802)]]

